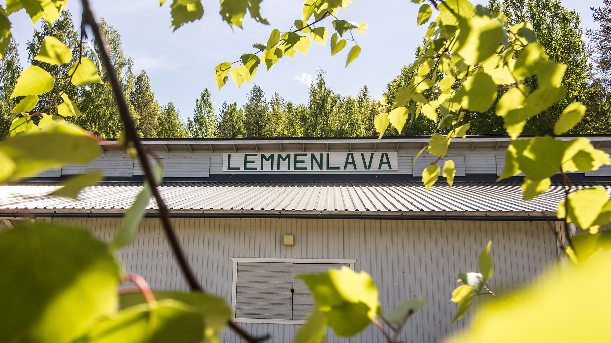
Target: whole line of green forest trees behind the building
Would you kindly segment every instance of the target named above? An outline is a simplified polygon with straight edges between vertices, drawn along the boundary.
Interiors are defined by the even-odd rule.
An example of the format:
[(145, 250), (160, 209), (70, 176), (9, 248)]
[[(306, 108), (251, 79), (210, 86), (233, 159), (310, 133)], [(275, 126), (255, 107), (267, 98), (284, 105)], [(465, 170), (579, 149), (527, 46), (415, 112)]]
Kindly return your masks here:
[[(569, 133), (608, 134), (611, 132), (611, 63), (608, 33), (611, 27), (610, 0), (604, 6), (591, 8), (593, 18), (601, 27), (584, 32), (579, 13), (568, 10), (558, 0), (490, 0), (488, 7), (502, 12), (511, 24), (529, 21), (539, 37), (549, 59), (565, 63), (568, 67), (563, 84), (568, 89), (565, 101), (552, 106), (549, 115), (557, 119), (566, 104), (584, 103), (588, 110), (584, 120)], [(191, 117), (183, 121), (180, 110), (172, 101), (159, 104), (155, 99), (146, 71), (133, 71), (133, 59), (123, 52), (121, 35), (109, 23), (101, 20), (101, 29), (108, 37), (115, 73), (128, 99), (130, 112), (139, 134), (145, 138), (207, 138), (207, 137), (356, 137), (377, 135), (373, 120), (381, 108), (377, 97), (371, 95), (367, 85), (356, 96), (343, 96), (327, 86), (324, 70), (319, 70), (310, 84), (309, 99), (305, 104), (291, 103), (279, 93), (266, 98), (264, 90), (254, 84), (249, 90), (246, 104), (236, 101), (223, 103), (218, 109), (212, 104), (211, 93), (205, 88), (195, 101)], [(71, 13), (65, 10), (53, 26), (43, 25), (34, 30), (27, 42), (27, 60), (49, 72), (57, 72), (61, 66), (33, 60), (48, 35), (77, 46), (79, 34)], [(584, 37), (590, 38), (590, 45)], [(21, 73), (20, 56), (12, 39), (0, 61), (0, 137), (9, 134), (9, 126), (18, 114), (10, 113), (20, 98), (10, 99), (12, 88)], [(98, 46), (82, 51), (83, 56), (95, 60)], [(73, 51), (74, 52), (74, 51)], [(419, 48), (416, 48), (416, 54)], [(78, 56), (79, 53), (74, 54)], [(590, 63), (590, 59), (594, 63)], [(63, 67), (67, 68), (67, 67)], [(101, 67), (100, 67), (101, 68)], [(122, 131), (119, 112), (115, 105), (106, 71), (101, 68), (104, 84), (93, 84), (68, 90), (68, 96), (76, 99), (82, 114), (72, 118), (76, 124), (103, 138), (117, 138)], [(408, 85), (417, 71), (406, 65), (397, 77), (387, 84), (382, 96), (388, 103), (395, 99), (398, 88)], [(536, 78), (526, 85), (536, 88)], [(453, 87), (459, 87), (458, 83)], [(51, 93), (57, 93), (53, 89)], [(431, 92), (434, 92), (431, 91)], [(504, 92), (499, 92), (499, 99)], [(431, 94), (432, 95), (432, 94)], [(38, 107), (43, 106), (39, 104)], [(33, 111), (40, 110), (36, 107)], [(42, 107), (41, 107), (42, 108)], [(437, 110), (437, 120), (442, 114)], [(504, 134), (503, 120), (494, 112), (494, 106), (484, 113), (466, 112), (471, 127), (467, 134)], [(439, 131), (435, 121), (425, 115), (409, 120), (401, 132), (389, 126), (386, 135), (431, 135)], [(525, 125), (525, 134), (546, 131), (541, 121), (531, 118)]]

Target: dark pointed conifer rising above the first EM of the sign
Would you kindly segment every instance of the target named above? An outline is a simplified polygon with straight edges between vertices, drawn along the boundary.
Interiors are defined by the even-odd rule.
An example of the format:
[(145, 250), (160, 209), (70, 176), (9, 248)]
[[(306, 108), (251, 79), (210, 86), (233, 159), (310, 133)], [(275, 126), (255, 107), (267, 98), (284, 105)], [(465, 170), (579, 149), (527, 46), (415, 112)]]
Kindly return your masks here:
[(249, 92), (248, 103), (244, 106), (246, 115), (246, 137), (267, 137), (269, 132), (269, 106), (265, 101), (265, 93), (258, 85), (253, 85)]

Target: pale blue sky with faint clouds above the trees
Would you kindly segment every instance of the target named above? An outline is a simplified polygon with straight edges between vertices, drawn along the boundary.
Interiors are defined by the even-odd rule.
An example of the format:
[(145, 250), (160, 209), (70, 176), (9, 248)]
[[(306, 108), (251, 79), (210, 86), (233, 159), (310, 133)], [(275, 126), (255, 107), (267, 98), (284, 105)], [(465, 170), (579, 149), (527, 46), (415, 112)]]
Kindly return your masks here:
[[(301, 18), (303, 3), (303, 0), (264, 0), (261, 13), (271, 25), (259, 24), (246, 15), (244, 30), (235, 27), (232, 31), (221, 21), (219, 1), (203, 0), (202, 20), (172, 32), (169, 27), (171, 1), (163, 7), (159, 7), (158, 0), (90, 1), (98, 18), (105, 18), (119, 30), (123, 49), (134, 59), (134, 71), (147, 71), (155, 98), (160, 104), (173, 101), (183, 118), (192, 115), (195, 99), (205, 87), (210, 89), (217, 111), (223, 101), (244, 104), (250, 87), (244, 83), (238, 89), (229, 79), (219, 92), (214, 81), (214, 66), (238, 60), (243, 52), (252, 52), (251, 45), (266, 42), (274, 28), (287, 31), (295, 19)], [(580, 13), (582, 27), (596, 27), (590, 7), (602, 5), (602, 0), (565, 0), (563, 4)], [(312, 43), (307, 57), (301, 53), (296, 54), (295, 59), (285, 57), (274, 65), (271, 73), (260, 66), (251, 85), (252, 82), (260, 85), (266, 98), (278, 92), (288, 101), (305, 103), (309, 81), (315, 78), (316, 70), (323, 68), (327, 85), (342, 95), (356, 95), (363, 85), (368, 85), (377, 98), (401, 67), (414, 59), (414, 47), (421, 43), (424, 35), (424, 26), (415, 24), (418, 8), (407, 0), (354, 0), (348, 11), (340, 10), (338, 17), (365, 22), (368, 29), (365, 34), (355, 37), (362, 51), (348, 68), (344, 65), (349, 46), (329, 57), (328, 43), (327, 46)], [(81, 2), (69, 0), (68, 9), (76, 21)], [(11, 15), (10, 19), (13, 35), (20, 43), (21, 62), (25, 64), (24, 48), (32, 37), (32, 22), (23, 10)], [(331, 27), (331, 23), (327, 26)]]

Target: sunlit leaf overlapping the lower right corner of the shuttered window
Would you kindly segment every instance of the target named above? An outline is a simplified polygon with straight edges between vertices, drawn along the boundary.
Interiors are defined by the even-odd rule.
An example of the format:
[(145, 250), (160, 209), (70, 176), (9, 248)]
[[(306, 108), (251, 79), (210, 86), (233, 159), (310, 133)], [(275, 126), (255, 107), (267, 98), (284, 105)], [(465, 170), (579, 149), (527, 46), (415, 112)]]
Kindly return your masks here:
[(348, 267), (299, 276), (313, 294), (327, 325), (338, 336), (364, 330), (380, 311), (378, 289), (371, 276)]

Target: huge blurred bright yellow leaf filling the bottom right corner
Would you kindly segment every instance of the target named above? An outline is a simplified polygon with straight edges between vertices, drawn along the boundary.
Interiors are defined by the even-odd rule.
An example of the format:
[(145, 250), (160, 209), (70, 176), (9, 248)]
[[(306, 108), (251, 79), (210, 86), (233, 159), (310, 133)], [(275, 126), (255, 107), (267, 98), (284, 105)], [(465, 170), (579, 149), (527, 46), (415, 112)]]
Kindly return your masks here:
[[(516, 301), (489, 301), (466, 332), (446, 342), (607, 341), (611, 297), (598, 290), (611, 283), (610, 266), (609, 250), (598, 251), (576, 267), (558, 265), (525, 291), (513, 294)], [(565, 313), (571, 314), (571, 328), (563, 330), (558, 316), (550, 314)]]

